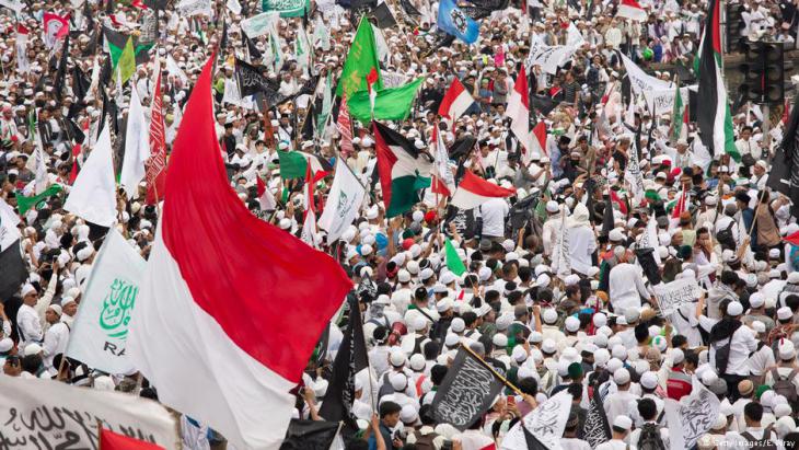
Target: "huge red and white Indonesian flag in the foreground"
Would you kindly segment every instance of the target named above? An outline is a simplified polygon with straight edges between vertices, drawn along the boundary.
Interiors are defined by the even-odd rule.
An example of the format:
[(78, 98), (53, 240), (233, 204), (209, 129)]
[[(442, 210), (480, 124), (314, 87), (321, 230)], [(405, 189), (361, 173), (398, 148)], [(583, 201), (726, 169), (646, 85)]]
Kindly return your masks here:
[(328, 255), (256, 218), (230, 187), (202, 69), (175, 139), (128, 334), (162, 403), (241, 449), (276, 449), (319, 336), (352, 284)]

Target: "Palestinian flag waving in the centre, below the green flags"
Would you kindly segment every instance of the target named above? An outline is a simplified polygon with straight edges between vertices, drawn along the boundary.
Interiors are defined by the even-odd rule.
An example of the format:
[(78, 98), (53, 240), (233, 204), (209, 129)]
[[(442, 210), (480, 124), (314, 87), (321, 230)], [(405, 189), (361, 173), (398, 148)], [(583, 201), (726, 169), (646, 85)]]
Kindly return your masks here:
[(383, 205), (392, 218), (409, 211), (419, 201), (419, 189), (430, 187), (432, 164), (398, 132), (378, 120), (372, 127)]

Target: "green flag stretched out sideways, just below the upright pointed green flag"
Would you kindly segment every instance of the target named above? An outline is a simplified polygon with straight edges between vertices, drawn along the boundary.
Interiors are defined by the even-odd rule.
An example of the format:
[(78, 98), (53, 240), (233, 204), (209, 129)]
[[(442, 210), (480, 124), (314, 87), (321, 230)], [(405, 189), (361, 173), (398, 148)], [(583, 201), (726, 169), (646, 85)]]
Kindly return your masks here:
[[(398, 88), (379, 90), (378, 97), (374, 100), (374, 118), (382, 120), (404, 120), (408, 118), (422, 81), (425, 81), (425, 77), (417, 78)], [(361, 123), (368, 124), (371, 120), (369, 92), (360, 91), (351, 97), (347, 97), (347, 107), (349, 114)]]

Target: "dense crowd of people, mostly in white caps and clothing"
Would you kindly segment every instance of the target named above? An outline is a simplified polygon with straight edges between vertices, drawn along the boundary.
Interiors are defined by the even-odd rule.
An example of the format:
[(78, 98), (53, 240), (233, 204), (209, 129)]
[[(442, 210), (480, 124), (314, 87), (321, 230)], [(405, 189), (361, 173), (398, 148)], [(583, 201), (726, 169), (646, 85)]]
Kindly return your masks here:
[[(326, 90), (335, 92), (363, 10), (316, 1), (306, 16), (280, 19), (276, 34), (246, 38), (241, 22), (260, 11), (259, 1), (242, 1), (238, 12), (231, 1), (215, 1), (211, 16), (182, 16), (171, 2), (158, 12), (138, 1), (85, 3), (27, 2), (19, 13), (0, 8), (0, 201), (19, 216), (28, 272), (12, 296), (0, 299), (3, 376), (158, 399), (158, 386), (147, 380), (142, 389), (135, 376), (63, 357), (107, 230), (66, 211), (63, 203), (99, 128), (111, 127), (121, 163), (131, 90), (150, 105), (155, 70), (163, 77), (169, 153), (194, 82), (218, 48), (220, 152), (231, 188), (253, 214), (285, 230), (286, 239), (301, 235), (304, 180), (281, 176), (281, 151), (312, 153), (332, 168), (341, 159), (367, 186), (341, 238), (328, 242), (320, 231), (312, 242), (351, 277), (363, 318), (369, 367), (356, 377), (358, 430), (346, 448), (500, 448), (517, 422), (566, 390), (574, 401), (564, 449), (591, 447), (583, 424), (595, 395), (603, 396), (612, 430), (598, 449), (665, 449), (664, 401), (690, 396), (699, 384), (721, 402), (696, 441), (699, 449), (789, 450), (799, 440), (799, 240), (790, 239), (799, 232), (791, 209), (799, 199), (767, 183), (777, 148), (797, 130), (779, 108), (764, 115), (730, 94), (739, 154), (718, 150), (705, 161), (697, 157), (707, 149), (695, 119), (675, 134), (682, 117), (650, 112), (645, 96), (625, 85), (621, 54), (652, 77), (668, 82), (679, 74), (690, 83), (708, 2), (641, 1), (646, 21), (615, 15), (613, 1), (495, 5), (473, 45), (444, 43), (436, 30), (437, 2), (390, 2), (396, 24), (374, 27), (383, 79), (399, 85), (426, 77), (410, 116), (390, 126), (431, 158), (438, 127), (456, 180), (472, 172), (514, 188), (512, 196), (470, 210), (427, 188), (410, 210), (392, 218), (377, 182), (370, 124), (355, 122), (354, 148), (344, 151), (336, 127), (340, 99), (329, 119), (319, 120), (314, 107)], [(796, 2), (745, 0), (740, 7), (742, 35), (795, 47)], [(61, 50), (47, 42), (45, 13), (70, 22), (68, 70), (60, 80)], [(131, 81), (106, 81), (102, 68), (111, 50), (102, 30), (141, 37), (153, 14), (155, 42), (141, 61), (137, 55)], [(531, 99), (553, 106), (542, 114), (531, 102), (532, 125), (544, 123), (547, 135), (543, 152), (522, 155), (505, 114), (517, 76), (532, 45), (572, 44), (574, 33), (578, 47), (555, 73), (525, 68)], [(310, 57), (298, 55), (298, 42), (305, 41)], [(289, 101), (264, 107), (257, 97), (242, 99), (235, 59), (262, 70)], [(78, 88), (81, 73), (89, 89)], [(438, 112), (454, 79), (474, 104), (452, 122)], [(309, 92), (310, 82), (315, 89)], [(452, 153), (463, 142), (471, 146)], [(640, 166), (644, 198), (625, 175), (630, 161)], [(333, 175), (315, 184), (319, 210)], [(38, 194), (43, 177), (47, 187), (61, 188), (23, 211), (19, 199)], [(260, 183), (273, 204), (258, 200)], [(160, 209), (146, 193), (144, 181), (136, 193), (119, 192), (114, 227), (147, 258)], [(453, 272), (447, 240), (465, 273)], [(693, 301), (664, 313), (655, 280), (698, 288)], [(291, 289), (291, 282), (275, 289)], [(298, 418), (324, 419), (319, 411), (351, 316), (344, 299), (343, 312), (332, 320), (325, 356), (309, 362)], [(460, 346), (514, 386), (465, 430), (438, 422), (431, 411)], [(182, 425), (185, 448), (225, 445), (190, 417)]]

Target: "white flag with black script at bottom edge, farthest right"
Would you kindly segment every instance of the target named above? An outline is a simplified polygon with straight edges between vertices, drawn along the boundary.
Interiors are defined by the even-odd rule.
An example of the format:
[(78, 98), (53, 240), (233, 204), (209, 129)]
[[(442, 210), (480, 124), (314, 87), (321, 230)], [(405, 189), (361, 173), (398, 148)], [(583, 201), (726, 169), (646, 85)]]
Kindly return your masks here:
[(680, 402), (667, 399), (664, 412), (669, 426), (671, 450), (694, 448), (696, 441), (710, 430), (718, 417), (718, 397), (694, 378), (691, 395)]

